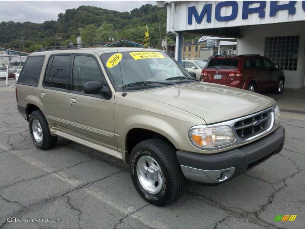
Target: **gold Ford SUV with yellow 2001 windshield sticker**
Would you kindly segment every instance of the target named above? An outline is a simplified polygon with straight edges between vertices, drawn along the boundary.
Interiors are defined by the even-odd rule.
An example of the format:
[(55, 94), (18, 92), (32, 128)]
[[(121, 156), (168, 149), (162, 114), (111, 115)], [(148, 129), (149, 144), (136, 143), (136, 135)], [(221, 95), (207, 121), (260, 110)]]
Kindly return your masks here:
[(221, 184), (280, 152), (285, 139), (273, 99), (199, 82), (157, 49), (32, 53), (16, 97), (38, 148), (61, 136), (119, 158), (158, 206), (180, 196), (185, 178)]

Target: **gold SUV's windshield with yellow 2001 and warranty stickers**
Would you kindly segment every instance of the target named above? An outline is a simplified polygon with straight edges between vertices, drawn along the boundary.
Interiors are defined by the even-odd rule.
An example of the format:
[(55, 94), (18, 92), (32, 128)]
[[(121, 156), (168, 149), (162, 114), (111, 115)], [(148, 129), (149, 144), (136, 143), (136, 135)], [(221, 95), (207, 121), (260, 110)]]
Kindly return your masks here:
[[(117, 88), (123, 85), (124, 89), (134, 89), (139, 86), (166, 86), (178, 81), (193, 82), (194, 80), (184, 68), (163, 52), (105, 53), (101, 55), (101, 58)], [(125, 88), (125, 86), (128, 87)]]

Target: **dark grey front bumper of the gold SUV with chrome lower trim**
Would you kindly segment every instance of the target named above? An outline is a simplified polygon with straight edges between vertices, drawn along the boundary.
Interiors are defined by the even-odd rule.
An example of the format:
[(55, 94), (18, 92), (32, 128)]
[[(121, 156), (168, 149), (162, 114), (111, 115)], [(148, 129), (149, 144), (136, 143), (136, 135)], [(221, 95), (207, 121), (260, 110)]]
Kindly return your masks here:
[(217, 184), (238, 176), (279, 153), (285, 141), (280, 126), (269, 135), (250, 144), (217, 154), (177, 151), (182, 172), (188, 180)]

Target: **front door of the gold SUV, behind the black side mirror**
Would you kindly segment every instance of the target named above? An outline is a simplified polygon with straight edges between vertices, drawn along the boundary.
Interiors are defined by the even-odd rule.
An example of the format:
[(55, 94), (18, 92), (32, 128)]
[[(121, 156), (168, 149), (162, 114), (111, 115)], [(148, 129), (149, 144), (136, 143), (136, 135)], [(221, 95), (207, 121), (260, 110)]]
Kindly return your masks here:
[(114, 139), (114, 96), (85, 94), (84, 84), (99, 81), (107, 85), (98, 59), (91, 55), (73, 55), (72, 90), (68, 92), (69, 121), (72, 134), (85, 141), (117, 151)]

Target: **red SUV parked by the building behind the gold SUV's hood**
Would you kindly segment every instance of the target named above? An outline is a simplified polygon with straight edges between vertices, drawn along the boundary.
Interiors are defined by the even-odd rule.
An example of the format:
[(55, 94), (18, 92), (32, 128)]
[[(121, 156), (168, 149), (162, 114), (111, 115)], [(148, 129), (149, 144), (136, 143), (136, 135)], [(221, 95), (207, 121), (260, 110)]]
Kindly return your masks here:
[(284, 90), (284, 72), (260, 55), (215, 56), (203, 68), (201, 81), (246, 89), (253, 92)]

